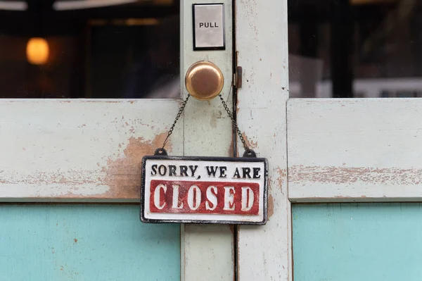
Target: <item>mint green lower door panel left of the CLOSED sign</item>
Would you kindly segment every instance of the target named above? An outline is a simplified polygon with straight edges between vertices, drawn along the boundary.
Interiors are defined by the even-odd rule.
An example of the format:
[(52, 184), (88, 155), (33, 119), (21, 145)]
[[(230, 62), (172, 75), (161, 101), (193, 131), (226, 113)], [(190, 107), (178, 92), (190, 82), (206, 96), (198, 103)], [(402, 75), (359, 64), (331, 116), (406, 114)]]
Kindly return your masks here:
[(0, 205), (0, 280), (180, 280), (179, 233), (139, 206)]

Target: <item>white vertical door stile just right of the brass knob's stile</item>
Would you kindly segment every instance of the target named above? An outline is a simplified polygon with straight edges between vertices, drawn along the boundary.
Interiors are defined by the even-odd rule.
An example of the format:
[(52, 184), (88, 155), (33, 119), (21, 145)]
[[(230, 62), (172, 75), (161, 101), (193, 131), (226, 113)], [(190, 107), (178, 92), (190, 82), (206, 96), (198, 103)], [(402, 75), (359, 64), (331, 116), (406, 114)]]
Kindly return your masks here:
[[(239, 280), (292, 280), (290, 202), (287, 197), (287, 1), (236, 2), (236, 49), (243, 67), (238, 125), (258, 156), (269, 160), (269, 221), (241, 226)], [(243, 146), (238, 144), (239, 154)]]

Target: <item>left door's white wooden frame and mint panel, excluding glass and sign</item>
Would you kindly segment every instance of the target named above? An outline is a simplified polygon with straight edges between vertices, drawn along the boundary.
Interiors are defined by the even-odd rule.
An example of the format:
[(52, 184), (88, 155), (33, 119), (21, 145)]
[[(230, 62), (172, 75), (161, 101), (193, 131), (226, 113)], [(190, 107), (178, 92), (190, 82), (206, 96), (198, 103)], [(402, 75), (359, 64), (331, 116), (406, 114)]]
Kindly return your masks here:
[[(180, 98), (0, 99), (1, 280), (233, 280), (229, 225), (139, 220), (141, 159), (167, 137), (187, 68), (217, 64), (232, 105), (231, 1), (199, 1), (225, 4), (226, 49), (205, 52), (192, 47), (193, 2), (179, 8)], [(233, 156), (233, 146), (220, 101), (191, 99), (166, 149)]]

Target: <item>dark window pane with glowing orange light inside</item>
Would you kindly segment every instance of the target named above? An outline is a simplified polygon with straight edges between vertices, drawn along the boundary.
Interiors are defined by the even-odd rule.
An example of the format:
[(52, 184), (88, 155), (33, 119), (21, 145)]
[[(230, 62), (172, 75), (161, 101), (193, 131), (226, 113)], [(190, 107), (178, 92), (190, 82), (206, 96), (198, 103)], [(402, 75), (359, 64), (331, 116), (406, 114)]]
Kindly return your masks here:
[(0, 1), (0, 98), (179, 91), (179, 1)]

